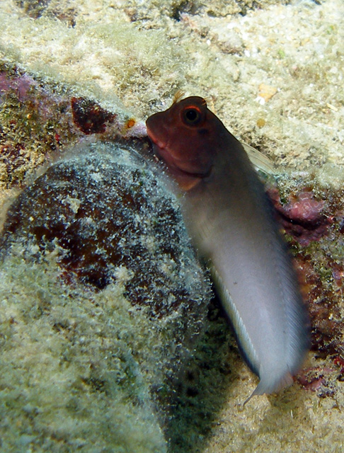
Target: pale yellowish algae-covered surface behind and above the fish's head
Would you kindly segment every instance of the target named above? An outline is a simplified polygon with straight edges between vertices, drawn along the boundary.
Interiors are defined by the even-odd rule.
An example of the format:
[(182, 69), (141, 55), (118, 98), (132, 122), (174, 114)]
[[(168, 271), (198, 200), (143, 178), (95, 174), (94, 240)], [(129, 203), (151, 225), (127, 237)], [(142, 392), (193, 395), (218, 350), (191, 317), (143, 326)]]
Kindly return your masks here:
[[(185, 11), (180, 21), (168, 15), (178, 2), (132, 2), (143, 13), (135, 18), (130, 4), (91, 6), (85, 1), (76, 8), (72, 27), (52, 13), (33, 21), (12, 7), (12, 16), (4, 9), (1, 16), (2, 55), (123, 115), (127, 108), (134, 117), (147, 116), (182, 88), (210, 99), (237, 137), (274, 161), (337, 165), (343, 142), (343, 96), (338, 89), (343, 15), (342, 5), (333, 1), (333, 7), (329, 2), (263, 2), (263, 9), (246, 16), (212, 16), (196, 8)], [(277, 88), (277, 94), (260, 105), (262, 83)], [(257, 126), (260, 118), (263, 127)]]

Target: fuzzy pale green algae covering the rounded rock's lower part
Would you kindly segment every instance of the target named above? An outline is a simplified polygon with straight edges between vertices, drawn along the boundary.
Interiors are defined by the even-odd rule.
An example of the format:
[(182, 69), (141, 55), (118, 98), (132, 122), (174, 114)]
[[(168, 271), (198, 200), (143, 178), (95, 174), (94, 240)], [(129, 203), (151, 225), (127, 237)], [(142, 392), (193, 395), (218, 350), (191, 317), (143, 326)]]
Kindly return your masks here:
[[(149, 389), (132, 358), (130, 367), (142, 329), (148, 330), (146, 316), (133, 313), (118, 289), (109, 288), (101, 297), (80, 288), (59, 289), (52, 263), (31, 265), (28, 272), (27, 263), (12, 256), (4, 266), (2, 448), (166, 451)], [(113, 323), (114, 317), (120, 322)], [(134, 325), (139, 329), (130, 336)], [(123, 332), (130, 336), (127, 342), (116, 341)], [(103, 387), (96, 386), (97, 380)]]

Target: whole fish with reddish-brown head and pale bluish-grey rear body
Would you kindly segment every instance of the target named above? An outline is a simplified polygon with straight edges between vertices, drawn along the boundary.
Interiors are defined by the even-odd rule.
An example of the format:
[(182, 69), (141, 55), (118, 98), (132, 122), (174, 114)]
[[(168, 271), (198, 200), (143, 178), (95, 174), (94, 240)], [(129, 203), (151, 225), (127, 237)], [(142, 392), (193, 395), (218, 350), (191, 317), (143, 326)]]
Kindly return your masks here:
[(245, 403), (289, 386), (309, 350), (309, 316), (247, 147), (200, 96), (177, 98), (146, 125), (243, 359), (259, 378)]

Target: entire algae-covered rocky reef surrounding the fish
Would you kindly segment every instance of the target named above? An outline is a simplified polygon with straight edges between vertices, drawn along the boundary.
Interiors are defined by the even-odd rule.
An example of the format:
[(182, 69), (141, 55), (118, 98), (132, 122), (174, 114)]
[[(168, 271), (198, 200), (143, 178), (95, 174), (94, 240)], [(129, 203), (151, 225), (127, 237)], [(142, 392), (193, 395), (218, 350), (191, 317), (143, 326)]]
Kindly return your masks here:
[[(124, 3), (0, 2), (0, 449), (341, 452), (343, 1)], [(178, 89), (277, 165), (311, 314), (297, 382), (244, 410), (255, 377), (142, 157)]]

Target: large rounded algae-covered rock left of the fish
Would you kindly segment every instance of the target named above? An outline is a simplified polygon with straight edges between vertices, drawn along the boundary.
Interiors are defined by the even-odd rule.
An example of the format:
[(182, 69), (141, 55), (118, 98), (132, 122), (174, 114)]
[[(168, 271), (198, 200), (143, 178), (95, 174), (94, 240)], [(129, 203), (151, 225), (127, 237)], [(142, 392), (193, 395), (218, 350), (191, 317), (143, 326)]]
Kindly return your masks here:
[(178, 203), (134, 149), (81, 144), (25, 188), (0, 273), (6, 452), (166, 452), (210, 293)]

